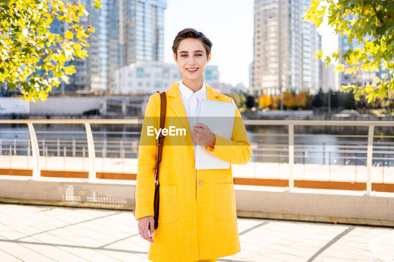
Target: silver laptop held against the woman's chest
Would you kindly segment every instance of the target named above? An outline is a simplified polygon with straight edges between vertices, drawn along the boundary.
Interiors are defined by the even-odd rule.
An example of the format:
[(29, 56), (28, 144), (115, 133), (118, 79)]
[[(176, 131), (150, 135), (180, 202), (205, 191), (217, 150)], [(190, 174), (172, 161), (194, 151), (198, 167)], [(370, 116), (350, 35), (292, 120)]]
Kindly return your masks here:
[[(234, 103), (203, 100), (201, 102), (200, 123), (208, 126), (212, 133), (232, 139), (236, 105)], [(230, 163), (212, 155), (206, 146), (197, 145), (196, 169), (228, 169)]]

